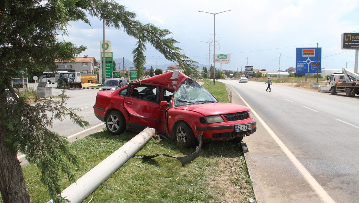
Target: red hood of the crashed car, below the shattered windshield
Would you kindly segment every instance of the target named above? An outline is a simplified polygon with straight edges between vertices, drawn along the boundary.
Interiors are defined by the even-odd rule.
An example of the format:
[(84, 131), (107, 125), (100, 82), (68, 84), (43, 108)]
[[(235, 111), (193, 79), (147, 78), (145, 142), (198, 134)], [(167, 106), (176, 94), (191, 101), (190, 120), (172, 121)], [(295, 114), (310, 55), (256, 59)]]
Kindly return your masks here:
[(229, 113), (238, 113), (243, 111), (249, 111), (250, 108), (233, 103), (201, 103), (195, 105), (178, 106), (176, 109), (182, 109), (187, 111), (193, 111), (200, 113), (204, 116), (223, 115)]

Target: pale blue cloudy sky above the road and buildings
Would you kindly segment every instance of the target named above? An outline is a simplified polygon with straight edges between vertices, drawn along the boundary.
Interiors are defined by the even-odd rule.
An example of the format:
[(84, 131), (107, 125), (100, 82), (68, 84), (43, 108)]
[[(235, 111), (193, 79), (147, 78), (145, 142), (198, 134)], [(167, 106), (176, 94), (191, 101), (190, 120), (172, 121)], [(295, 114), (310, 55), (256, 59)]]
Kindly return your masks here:
[[(231, 63), (223, 69), (241, 71), (244, 66), (274, 71), (295, 67), (296, 47), (322, 48), (322, 68), (354, 69), (355, 50), (341, 49), (341, 34), (359, 33), (359, 0), (117, 0), (137, 14), (142, 23), (169, 29), (177, 47), (200, 64), (208, 66), (209, 43), (213, 41), (216, 16), (216, 54), (230, 54)], [(69, 26), (69, 38), (85, 45), (88, 55), (100, 60), (102, 22), (90, 19), (92, 28), (75, 22)], [(106, 40), (112, 41), (114, 58), (132, 61), (136, 40), (122, 30), (106, 28)], [(204, 42), (201, 42), (204, 41)], [(213, 43), (210, 55), (213, 54)], [(280, 62), (279, 62), (279, 56)], [(167, 61), (148, 45), (147, 64)], [(213, 58), (210, 58), (211, 64)], [(347, 63), (348, 62), (348, 63)], [(122, 67), (122, 65), (121, 65)], [(219, 68), (220, 64), (216, 64)], [(127, 67), (128, 68), (128, 67)]]

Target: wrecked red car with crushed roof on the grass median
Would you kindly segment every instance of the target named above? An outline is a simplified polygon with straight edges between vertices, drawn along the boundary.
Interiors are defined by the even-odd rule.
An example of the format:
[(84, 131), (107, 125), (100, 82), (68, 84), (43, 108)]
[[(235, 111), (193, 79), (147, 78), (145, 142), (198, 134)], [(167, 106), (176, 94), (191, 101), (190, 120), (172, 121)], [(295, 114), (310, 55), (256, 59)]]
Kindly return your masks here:
[(99, 91), (93, 106), (96, 117), (113, 134), (126, 129), (152, 127), (185, 142), (187, 148), (203, 139), (235, 140), (256, 131), (250, 109), (220, 103), (204, 87), (182, 72), (174, 71), (143, 79), (114, 91)]

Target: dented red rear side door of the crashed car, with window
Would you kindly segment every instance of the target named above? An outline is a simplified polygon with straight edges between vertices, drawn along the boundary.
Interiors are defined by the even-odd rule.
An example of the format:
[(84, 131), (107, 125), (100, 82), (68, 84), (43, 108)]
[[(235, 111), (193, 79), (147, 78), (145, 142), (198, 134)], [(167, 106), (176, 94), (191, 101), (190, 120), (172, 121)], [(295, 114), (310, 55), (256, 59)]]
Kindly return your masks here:
[[(159, 95), (159, 87), (145, 84), (131, 84), (124, 100), (123, 106), (129, 114), (129, 128), (143, 130), (145, 127), (158, 129), (160, 106), (159, 98), (148, 101), (145, 95), (146, 90), (152, 90), (154, 95)], [(138, 91), (140, 96), (135, 96), (133, 92)]]

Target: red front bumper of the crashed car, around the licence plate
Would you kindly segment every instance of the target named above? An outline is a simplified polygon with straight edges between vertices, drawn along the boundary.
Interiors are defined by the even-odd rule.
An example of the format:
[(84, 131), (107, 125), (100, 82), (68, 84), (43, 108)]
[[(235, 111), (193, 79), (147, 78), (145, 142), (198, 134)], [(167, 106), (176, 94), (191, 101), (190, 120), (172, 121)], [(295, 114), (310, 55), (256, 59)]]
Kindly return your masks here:
[[(242, 124), (252, 124), (252, 129), (242, 132), (235, 132), (234, 126)], [(215, 126), (205, 126), (205, 124), (200, 124), (196, 126), (196, 135), (203, 132), (204, 139), (211, 140), (225, 140), (232, 139), (235, 137), (248, 136), (256, 132), (257, 122), (246, 122), (242, 124), (233, 124), (233, 125), (215, 125)]]

